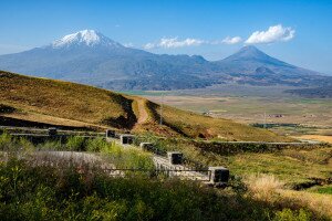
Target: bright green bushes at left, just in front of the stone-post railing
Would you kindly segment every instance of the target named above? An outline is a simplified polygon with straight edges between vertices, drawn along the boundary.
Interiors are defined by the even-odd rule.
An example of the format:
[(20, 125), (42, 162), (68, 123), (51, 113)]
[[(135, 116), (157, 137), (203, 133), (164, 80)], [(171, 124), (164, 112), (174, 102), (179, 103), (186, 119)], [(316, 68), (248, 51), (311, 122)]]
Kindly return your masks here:
[[(23, 152), (30, 161), (49, 160), (34, 158), (33, 152), (48, 151), (87, 151), (100, 156), (105, 162), (116, 168), (153, 169), (152, 155), (137, 148), (122, 148), (115, 143), (106, 143), (103, 138), (70, 137), (65, 140), (53, 139), (40, 144), (32, 144), (24, 138), (14, 138), (7, 133), (0, 135), (0, 150)], [(27, 155), (25, 155), (27, 154)], [(4, 157), (4, 156), (2, 156)], [(48, 157), (48, 156), (46, 156)], [(92, 165), (93, 166), (93, 165)]]

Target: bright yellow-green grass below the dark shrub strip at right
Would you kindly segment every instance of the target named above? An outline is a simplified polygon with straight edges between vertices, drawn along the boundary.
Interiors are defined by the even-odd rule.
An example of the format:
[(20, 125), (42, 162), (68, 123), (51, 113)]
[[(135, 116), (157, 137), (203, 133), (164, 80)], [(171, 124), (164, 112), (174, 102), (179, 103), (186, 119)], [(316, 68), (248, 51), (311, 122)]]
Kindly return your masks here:
[(225, 165), (234, 173), (271, 173), (288, 186), (312, 182), (311, 178), (326, 179), (331, 176), (331, 148), (312, 150), (282, 150), (277, 152), (243, 152), (234, 156), (214, 156), (215, 165)]

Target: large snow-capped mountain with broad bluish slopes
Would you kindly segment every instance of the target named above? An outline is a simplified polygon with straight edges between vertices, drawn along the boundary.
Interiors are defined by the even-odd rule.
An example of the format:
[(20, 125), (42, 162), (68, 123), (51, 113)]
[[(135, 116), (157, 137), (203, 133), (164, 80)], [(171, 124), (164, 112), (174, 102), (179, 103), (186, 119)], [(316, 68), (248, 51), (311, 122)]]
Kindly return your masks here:
[[(189, 75), (201, 87), (206, 84), (200, 82), (199, 74), (209, 69), (209, 62), (200, 56), (152, 54), (125, 48), (93, 30), (66, 35), (43, 48), (0, 56), (0, 70), (121, 90), (141, 88), (142, 84), (160, 88), (160, 80), (166, 83), (164, 86), (178, 88), (178, 81), (184, 82)], [(193, 83), (183, 87), (191, 85), (195, 87)]]

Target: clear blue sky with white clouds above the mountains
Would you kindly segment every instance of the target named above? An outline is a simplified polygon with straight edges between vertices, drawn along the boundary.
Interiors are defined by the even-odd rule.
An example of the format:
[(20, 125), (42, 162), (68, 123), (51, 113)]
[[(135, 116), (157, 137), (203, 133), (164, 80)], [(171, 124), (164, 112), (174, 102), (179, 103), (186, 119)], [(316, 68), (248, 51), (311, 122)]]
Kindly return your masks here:
[(207, 60), (255, 44), (332, 74), (332, 0), (1, 0), (0, 8), (0, 54), (94, 29), (154, 53)]

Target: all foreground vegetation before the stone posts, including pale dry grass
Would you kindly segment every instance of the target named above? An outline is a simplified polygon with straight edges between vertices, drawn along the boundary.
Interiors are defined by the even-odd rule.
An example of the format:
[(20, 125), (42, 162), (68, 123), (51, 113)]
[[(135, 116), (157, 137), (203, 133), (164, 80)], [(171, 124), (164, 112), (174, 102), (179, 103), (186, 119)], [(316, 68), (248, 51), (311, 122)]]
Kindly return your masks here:
[(232, 176), (230, 186), (218, 190), (146, 172), (114, 177), (102, 169), (105, 164), (77, 166), (68, 158), (59, 164), (45, 164), (43, 158), (43, 164), (37, 164), (33, 158), (45, 150), (87, 150), (116, 168), (153, 171), (151, 154), (122, 148), (103, 138), (70, 137), (65, 141), (32, 144), (3, 133), (0, 149), (1, 220), (328, 220), (331, 217), (330, 198), (289, 190), (271, 175), (243, 176), (243, 179)]

